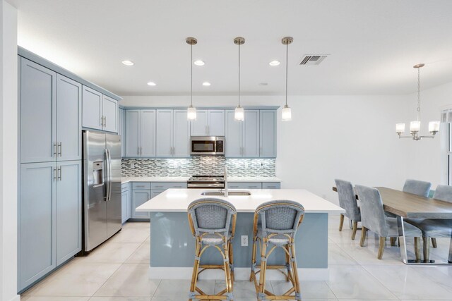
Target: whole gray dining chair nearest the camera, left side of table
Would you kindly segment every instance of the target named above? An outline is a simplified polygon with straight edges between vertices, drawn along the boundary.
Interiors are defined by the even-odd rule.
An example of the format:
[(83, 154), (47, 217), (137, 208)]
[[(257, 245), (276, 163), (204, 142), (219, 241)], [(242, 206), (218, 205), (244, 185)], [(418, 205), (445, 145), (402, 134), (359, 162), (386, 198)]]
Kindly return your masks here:
[[(398, 237), (397, 219), (388, 217), (384, 214), (383, 202), (381, 195), (376, 188), (356, 185), (355, 190), (361, 200), (361, 241), (359, 245), (364, 247), (367, 230), (379, 235), (379, 253), (378, 259), (383, 257), (386, 238)], [(415, 254), (416, 259), (420, 259), (420, 237), (422, 233), (415, 226), (405, 223), (405, 236), (415, 238)]]

